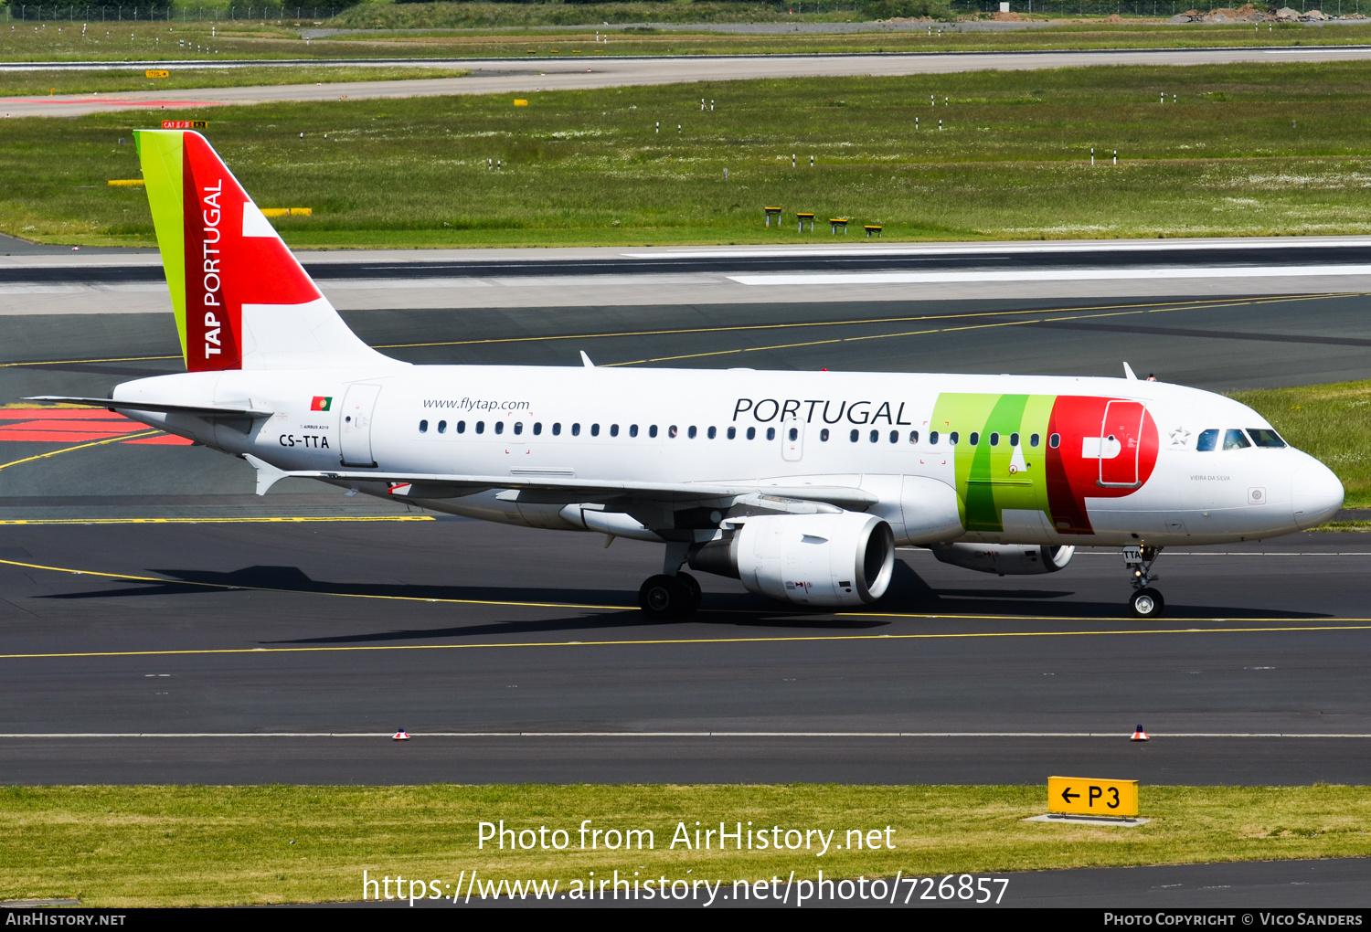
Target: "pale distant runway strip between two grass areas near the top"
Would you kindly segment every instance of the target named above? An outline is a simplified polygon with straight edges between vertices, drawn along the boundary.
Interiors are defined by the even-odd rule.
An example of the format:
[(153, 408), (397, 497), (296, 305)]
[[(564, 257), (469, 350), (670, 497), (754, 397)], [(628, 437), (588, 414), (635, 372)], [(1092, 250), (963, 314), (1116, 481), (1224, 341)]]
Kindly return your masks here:
[[(1371, 47), (1253, 47), (1183, 49), (1087, 49), (1052, 52), (928, 52), (890, 55), (736, 55), (594, 59), (452, 59), (472, 69), (463, 78), (354, 81), (328, 85), (137, 90), (112, 95), (0, 97), (0, 112), (18, 116), (80, 116), (122, 110), (203, 110), (225, 104), (430, 97), (470, 93), (536, 93), (629, 85), (747, 81), (799, 77), (898, 77), (961, 71), (1089, 67), (1100, 64), (1228, 64), (1237, 62), (1348, 62), (1371, 58)], [(414, 64), (404, 60), (404, 64)], [(433, 62), (426, 60), (425, 64)], [(314, 62), (311, 62), (314, 64)], [(160, 66), (160, 64), (159, 64)]]

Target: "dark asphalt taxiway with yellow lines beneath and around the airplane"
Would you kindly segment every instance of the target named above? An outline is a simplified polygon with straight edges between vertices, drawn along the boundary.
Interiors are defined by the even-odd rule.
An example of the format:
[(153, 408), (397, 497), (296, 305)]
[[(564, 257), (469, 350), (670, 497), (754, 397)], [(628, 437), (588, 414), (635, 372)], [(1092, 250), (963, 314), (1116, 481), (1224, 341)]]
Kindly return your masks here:
[[(347, 317), (417, 362), (576, 365), (584, 348), (707, 378), (740, 360), (1113, 374), (1128, 359), (1241, 388), (1363, 376), (1366, 308), (1342, 293)], [(10, 403), (180, 367), (163, 314), (4, 330)], [(857, 615), (706, 577), (702, 615), (646, 625), (631, 609), (659, 561), (646, 544), (426, 519), (303, 481), (255, 499), (251, 470), (204, 448), (77, 447), (0, 439), (5, 781), (1367, 781), (1360, 535), (1168, 552), (1169, 617), (1146, 626), (1126, 617), (1117, 554), (1089, 551), (1019, 578), (906, 551), (893, 595)], [(258, 521), (282, 517), (314, 521)], [(1139, 722), (1145, 746), (1127, 740)], [(414, 740), (392, 743), (400, 726)]]

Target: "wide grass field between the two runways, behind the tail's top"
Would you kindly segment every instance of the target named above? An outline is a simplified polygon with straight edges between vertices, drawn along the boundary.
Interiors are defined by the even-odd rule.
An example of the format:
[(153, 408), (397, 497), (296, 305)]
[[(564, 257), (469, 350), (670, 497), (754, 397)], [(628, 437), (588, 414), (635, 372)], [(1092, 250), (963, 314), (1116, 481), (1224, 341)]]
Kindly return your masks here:
[[(701, 111), (702, 97), (716, 108)], [(310, 218), (281, 221), (298, 247), (831, 241), (828, 217), (851, 217), (858, 237), (862, 223), (880, 223), (887, 240), (1371, 232), (1371, 69), (1357, 63), (718, 82), (529, 100), (155, 118), (208, 118), (210, 140), (262, 206), (311, 207)], [(151, 243), (143, 192), (104, 185), (137, 177), (133, 147), (115, 143), (147, 122), (8, 121), (0, 230)], [(487, 167), (495, 162), (503, 169)], [(814, 211), (818, 232), (768, 230), (766, 206)]]

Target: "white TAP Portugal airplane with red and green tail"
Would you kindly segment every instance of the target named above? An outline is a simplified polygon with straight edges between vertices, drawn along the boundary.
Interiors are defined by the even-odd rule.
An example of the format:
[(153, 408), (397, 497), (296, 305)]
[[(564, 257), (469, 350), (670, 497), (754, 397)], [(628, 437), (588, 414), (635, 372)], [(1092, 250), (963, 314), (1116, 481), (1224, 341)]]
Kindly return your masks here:
[(1342, 485), (1252, 408), (1073, 376), (418, 366), (362, 343), (208, 141), (134, 134), (186, 371), (99, 406), (241, 456), (256, 492), (307, 477), (433, 511), (664, 544), (650, 618), (687, 572), (808, 607), (880, 599), (897, 547), (986, 573), (1119, 547), (1160, 617), (1164, 547), (1309, 529)]

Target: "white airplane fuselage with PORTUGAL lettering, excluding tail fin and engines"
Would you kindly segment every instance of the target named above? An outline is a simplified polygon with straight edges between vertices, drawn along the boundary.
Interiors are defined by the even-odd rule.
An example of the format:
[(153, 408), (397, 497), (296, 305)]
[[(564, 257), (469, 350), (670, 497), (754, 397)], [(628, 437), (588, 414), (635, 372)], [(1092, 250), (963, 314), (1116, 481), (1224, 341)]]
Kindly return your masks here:
[[(1047, 400), (1036, 408), (1030, 402), (1023, 422), (1005, 426), (986, 417), (1002, 421), (1006, 415), (975, 414), (990, 410), (997, 396)], [(1053, 482), (1046, 466), (1049, 443), (1057, 444), (1050, 450), (1064, 461), (1089, 461), (1087, 471), (1097, 469), (1101, 456), (1142, 455), (1120, 450), (1112, 434), (1101, 436), (1102, 430), (1061, 434), (1050, 432), (1041, 417), (1032, 419), (1034, 410), (1046, 411), (1050, 399), (1065, 396), (1141, 403), (1138, 410), (1145, 410), (1156, 428), (1148, 448), (1154, 450), (1156, 462), (1145, 481), (1121, 491), (1078, 488), (1089, 533), (1054, 521), (1047, 507), (995, 506), (994, 518), (976, 526), (968, 504), (976, 495), (986, 502), (991, 500), (986, 495), (1001, 496), (995, 499), (1001, 503), (1010, 500), (1005, 496), (1027, 502), (1024, 496), (1038, 495), (1046, 502), (1046, 487)], [(1222, 543), (1311, 528), (1342, 503), (1342, 487), (1333, 473), (1293, 447), (1249, 443), (1224, 450), (1220, 443), (1212, 451), (1198, 451), (1197, 439), (1205, 430), (1216, 429), (1223, 437), (1227, 430), (1270, 425), (1231, 399), (1154, 381), (393, 363), (374, 371), (162, 376), (125, 382), (114, 397), (204, 404), (250, 400), (274, 414), (233, 422), (123, 413), (228, 452), (251, 454), (285, 471), (344, 470), (355, 476), (373, 469), (391, 474), (851, 487), (876, 499), (868, 510), (884, 517), (901, 543)], [(956, 413), (962, 410), (968, 414), (958, 424)], [(978, 445), (987, 445), (980, 466), (968, 465), (972, 434)], [(994, 450), (988, 448), (991, 437)], [(1004, 463), (1009, 467), (1001, 469)], [(1080, 471), (1080, 463), (1071, 467)], [(1106, 467), (1117, 473), (1117, 463), (1109, 462), (1098, 467), (1100, 477), (1106, 477)], [(991, 471), (978, 478), (978, 469)], [(1061, 481), (1058, 477), (1052, 491), (1058, 499), (1064, 495)], [(968, 491), (978, 482), (979, 492)], [(381, 496), (406, 492), (356, 478), (339, 484)], [(956, 495), (930, 495), (928, 489), (942, 487)], [(986, 487), (994, 488), (986, 492)], [(529, 526), (588, 526), (565, 502), (518, 489), (424, 498), (421, 503)], [(942, 513), (934, 514), (939, 508)], [(949, 515), (947, 508), (956, 514)], [(625, 533), (654, 539), (650, 526), (644, 533), (635, 530), (640, 524), (633, 519)]]

